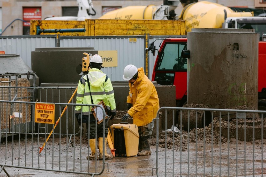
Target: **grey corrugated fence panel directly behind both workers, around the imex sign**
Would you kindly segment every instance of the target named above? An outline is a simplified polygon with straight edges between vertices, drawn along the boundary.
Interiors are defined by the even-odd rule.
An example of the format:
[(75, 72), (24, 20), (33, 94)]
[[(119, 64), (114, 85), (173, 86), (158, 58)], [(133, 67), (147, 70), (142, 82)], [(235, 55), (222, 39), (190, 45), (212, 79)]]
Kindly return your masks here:
[[(129, 42), (136, 38), (136, 42)], [(145, 69), (145, 36), (60, 36), (60, 47), (94, 47), (94, 50), (117, 50), (117, 67), (101, 69), (111, 81), (122, 79), (126, 65)]]

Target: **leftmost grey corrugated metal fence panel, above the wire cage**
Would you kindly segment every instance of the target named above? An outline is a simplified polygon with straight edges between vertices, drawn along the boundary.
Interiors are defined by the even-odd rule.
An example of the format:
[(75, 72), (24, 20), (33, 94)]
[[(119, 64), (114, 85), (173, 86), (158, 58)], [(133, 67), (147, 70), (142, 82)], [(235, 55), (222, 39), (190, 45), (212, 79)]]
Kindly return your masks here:
[(35, 48), (56, 47), (56, 35), (0, 36), (0, 50), (5, 54), (19, 54), (31, 68), (31, 53)]

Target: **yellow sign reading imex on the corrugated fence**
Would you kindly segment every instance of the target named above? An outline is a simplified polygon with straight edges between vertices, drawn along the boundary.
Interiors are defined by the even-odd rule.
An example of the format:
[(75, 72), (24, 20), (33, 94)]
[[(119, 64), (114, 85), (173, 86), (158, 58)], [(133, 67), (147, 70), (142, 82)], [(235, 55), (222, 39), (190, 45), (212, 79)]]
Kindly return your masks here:
[(117, 50), (98, 50), (98, 55), (102, 58), (103, 67), (117, 66)]

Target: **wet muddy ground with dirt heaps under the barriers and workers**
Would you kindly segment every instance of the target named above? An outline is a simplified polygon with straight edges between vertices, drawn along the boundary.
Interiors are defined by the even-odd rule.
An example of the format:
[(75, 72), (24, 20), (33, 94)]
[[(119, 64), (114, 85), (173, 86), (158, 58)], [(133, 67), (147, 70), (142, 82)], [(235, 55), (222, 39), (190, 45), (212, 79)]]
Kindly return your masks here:
[[(125, 115), (126, 111), (117, 111), (116, 117)], [(238, 120), (239, 128), (244, 122)], [(230, 121), (229, 128), (235, 129), (235, 120)], [(259, 119), (254, 119), (255, 127), (261, 128)], [(246, 128), (253, 123), (253, 119), (246, 122)], [(263, 122), (266, 125), (265, 121)], [(228, 122), (221, 120), (221, 128), (227, 128)], [(212, 128), (213, 126), (213, 128)], [(84, 173), (103, 173), (99, 176), (263, 176), (266, 175), (266, 139), (263, 141), (236, 141), (227, 139), (219, 132), (220, 122), (214, 120), (213, 124), (205, 128), (192, 129), (190, 132), (180, 133), (166, 131), (159, 133), (158, 151), (156, 137), (151, 137), (152, 155), (115, 157), (106, 160), (86, 160), (89, 153), (88, 140), (84, 136), (75, 136), (75, 146), (66, 146), (69, 139), (66, 137), (52, 138), (47, 142), (46, 150), (38, 156), (38, 146), (45, 141), (44, 137), (27, 139), (21, 136), (11, 141), (1, 141), (0, 164), (27, 166), (25, 168), (5, 167), (10, 176), (88, 176)], [(217, 129), (218, 128), (218, 129)], [(196, 136), (197, 135), (197, 136)], [(166, 143), (165, 143), (166, 139)], [(26, 141), (27, 140), (27, 141)], [(71, 140), (74, 140), (73, 137)], [(181, 143), (182, 142), (182, 143)], [(174, 147), (173, 147), (174, 144)], [(181, 147), (181, 148), (180, 148)], [(109, 147), (107, 153), (111, 154)], [(158, 156), (156, 158), (156, 153)], [(26, 154), (26, 155), (25, 155)], [(5, 160), (7, 160), (5, 162)], [(27, 164), (27, 165), (26, 165)], [(67, 165), (66, 165), (67, 164)], [(31, 169), (33, 168), (33, 169)], [(35, 169), (34, 169), (35, 168)], [(96, 168), (96, 170), (95, 170)], [(47, 169), (47, 170), (38, 170)], [(174, 171), (173, 171), (174, 169)], [(166, 170), (166, 171), (165, 171)], [(61, 171), (61, 172), (59, 172)], [(81, 174), (64, 173), (62, 171), (81, 171)], [(82, 174), (83, 173), (83, 174)], [(0, 177), (6, 177), (4, 171)]]

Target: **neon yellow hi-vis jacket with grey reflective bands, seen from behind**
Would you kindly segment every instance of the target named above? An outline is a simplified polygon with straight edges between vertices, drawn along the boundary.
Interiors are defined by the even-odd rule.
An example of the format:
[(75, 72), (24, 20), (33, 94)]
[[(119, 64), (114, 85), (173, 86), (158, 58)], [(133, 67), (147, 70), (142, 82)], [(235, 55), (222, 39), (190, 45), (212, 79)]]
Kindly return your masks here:
[[(110, 78), (100, 69), (96, 68), (90, 69), (87, 75), (82, 76), (78, 82), (76, 103), (91, 104), (92, 96), (94, 104), (97, 104), (103, 100), (106, 108), (110, 110), (110, 112), (116, 112), (115, 94)], [(90, 89), (87, 78), (90, 81)], [(76, 106), (75, 112), (81, 113), (81, 106)], [(82, 107), (83, 115), (89, 115), (91, 113), (91, 107)]]

